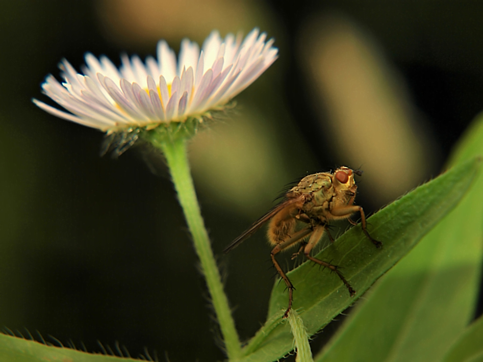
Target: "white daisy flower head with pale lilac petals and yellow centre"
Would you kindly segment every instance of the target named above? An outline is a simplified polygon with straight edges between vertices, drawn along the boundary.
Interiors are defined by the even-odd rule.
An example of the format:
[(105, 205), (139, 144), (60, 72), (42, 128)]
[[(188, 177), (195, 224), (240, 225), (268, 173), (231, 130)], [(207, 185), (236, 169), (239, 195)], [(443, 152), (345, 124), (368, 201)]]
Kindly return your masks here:
[[(179, 59), (166, 41), (158, 43), (158, 60), (122, 55), (119, 69), (105, 56), (85, 56), (78, 73), (63, 59), (59, 64), (64, 82), (50, 74), (43, 93), (68, 112), (33, 102), (44, 111), (97, 128), (108, 134), (133, 128), (155, 128), (190, 117), (202, 119), (220, 109), (259, 77), (277, 58), (273, 39), (253, 29), (242, 41), (228, 34), (224, 40), (213, 31), (201, 51), (184, 39)], [(69, 113), (70, 112), (70, 113)]]

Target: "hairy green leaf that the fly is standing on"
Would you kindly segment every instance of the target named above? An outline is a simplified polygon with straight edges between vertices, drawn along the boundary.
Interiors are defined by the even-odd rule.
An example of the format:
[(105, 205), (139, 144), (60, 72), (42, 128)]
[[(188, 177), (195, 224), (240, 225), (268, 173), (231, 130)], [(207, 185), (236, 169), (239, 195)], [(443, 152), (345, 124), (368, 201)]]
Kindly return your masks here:
[[(337, 275), (314, 267), (312, 263), (304, 263), (289, 272), (288, 276), (296, 288), (294, 308), (307, 331), (314, 334), (320, 330), (408, 253), (463, 197), (479, 164), (479, 160), (471, 160), (455, 167), (369, 218), (369, 231), (375, 239), (384, 242), (382, 249), (376, 249), (364, 236), (361, 227), (355, 226), (316, 255), (320, 260), (344, 268), (344, 276), (357, 291), (355, 298), (349, 296)], [(276, 283), (269, 316), (280, 313), (286, 307), (285, 285)], [(293, 348), (288, 324), (275, 325), (273, 318), (269, 321), (245, 347), (243, 361), (273, 361)]]

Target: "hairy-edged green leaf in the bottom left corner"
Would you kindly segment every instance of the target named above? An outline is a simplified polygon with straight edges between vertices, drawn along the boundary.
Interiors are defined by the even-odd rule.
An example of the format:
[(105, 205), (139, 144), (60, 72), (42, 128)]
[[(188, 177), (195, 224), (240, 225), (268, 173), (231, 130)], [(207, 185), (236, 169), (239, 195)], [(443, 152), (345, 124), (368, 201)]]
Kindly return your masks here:
[(46, 346), (0, 333), (0, 360), (8, 362), (136, 362), (139, 359), (91, 354), (70, 348)]

